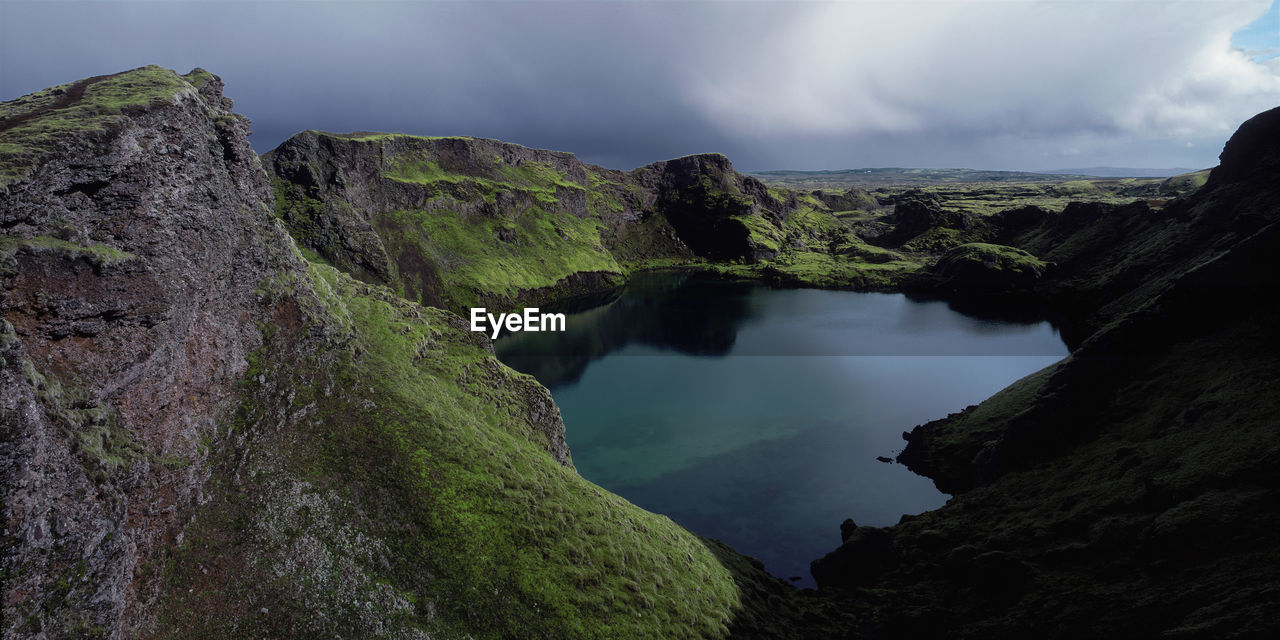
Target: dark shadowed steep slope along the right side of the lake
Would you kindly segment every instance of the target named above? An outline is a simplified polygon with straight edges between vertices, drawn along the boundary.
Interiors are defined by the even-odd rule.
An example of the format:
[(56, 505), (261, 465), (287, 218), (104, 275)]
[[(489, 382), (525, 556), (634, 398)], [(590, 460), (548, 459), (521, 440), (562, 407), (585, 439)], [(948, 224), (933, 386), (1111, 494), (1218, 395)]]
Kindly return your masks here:
[(1062, 362), (906, 434), (955, 494), (847, 527), (824, 589), (874, 589), (902, 637), (1256, 637), (1280, 593), (1280, 109), (1162, 211), (1074, 206), (1011, 242), (1057, 262)]

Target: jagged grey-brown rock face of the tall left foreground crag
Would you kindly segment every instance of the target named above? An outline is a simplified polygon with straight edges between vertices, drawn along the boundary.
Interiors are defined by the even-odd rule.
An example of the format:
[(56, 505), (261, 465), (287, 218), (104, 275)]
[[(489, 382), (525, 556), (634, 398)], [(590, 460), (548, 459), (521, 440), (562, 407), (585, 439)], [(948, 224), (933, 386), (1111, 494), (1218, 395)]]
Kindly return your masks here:
[(261, 342), (253, 291), (293, 255), (248, 122), (198, 69), (77, 83), (78, 101), (0, 136), (20, 143), (110, 91), (145, 100), (101, 131), (50, 127), (54, 152), (0, 192), (6, 636), (132, 635), (147, 618)]

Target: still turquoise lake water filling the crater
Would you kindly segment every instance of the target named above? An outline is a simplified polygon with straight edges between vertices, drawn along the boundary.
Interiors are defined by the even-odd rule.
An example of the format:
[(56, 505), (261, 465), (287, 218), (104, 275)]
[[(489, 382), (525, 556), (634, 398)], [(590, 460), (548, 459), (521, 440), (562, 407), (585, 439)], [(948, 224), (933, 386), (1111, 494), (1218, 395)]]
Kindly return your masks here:
[(495, 351), (552, 390), (579, 472), (799, 586), (845, 518), (884, 526), (946, 502), (876, 460), (904, 430), (1066, 355), (1036, 316), (687, 274), (561, 311), (567, 332)]

